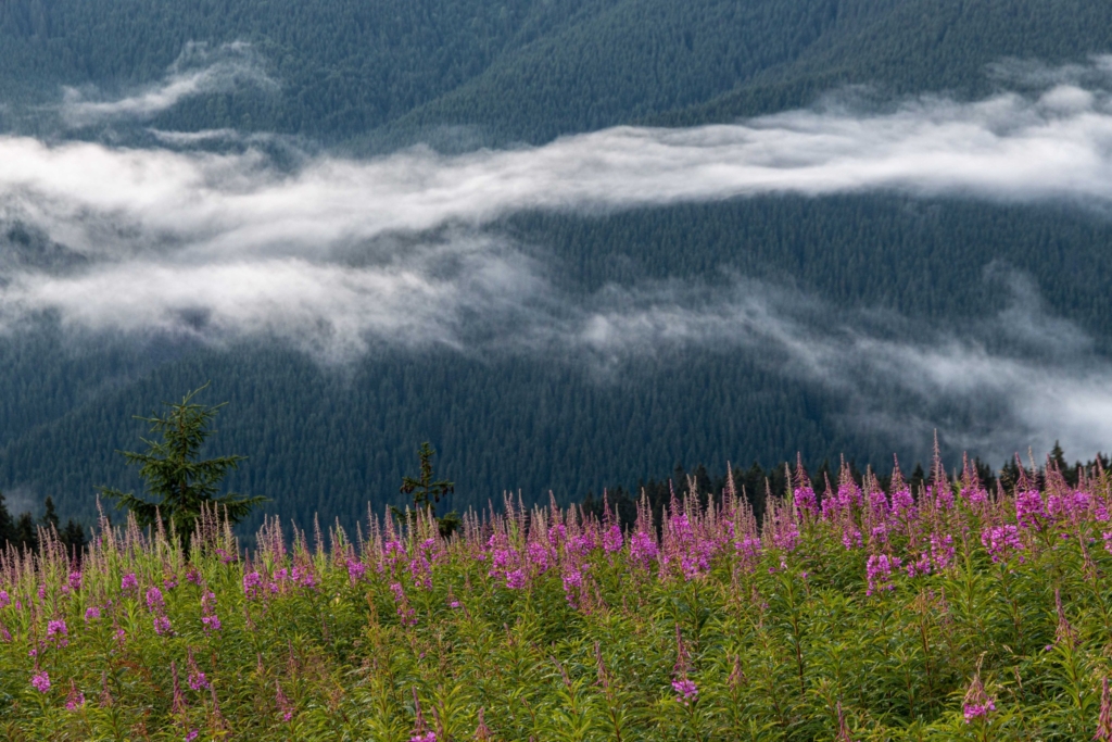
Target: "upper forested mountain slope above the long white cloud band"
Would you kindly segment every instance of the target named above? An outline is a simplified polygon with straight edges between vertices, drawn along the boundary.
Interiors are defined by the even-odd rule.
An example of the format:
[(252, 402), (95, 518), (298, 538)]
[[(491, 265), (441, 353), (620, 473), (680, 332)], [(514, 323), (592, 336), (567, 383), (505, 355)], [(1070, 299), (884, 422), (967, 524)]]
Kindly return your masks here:
[[(189, 42), (211, 52), (244, 41), (277, 89), (212, 92), (152, 125), (376, 148), (543, 141), (728, 120), (844, 85), (970, 95), (994, 85), (986, 66), (1002, 59), (1106, 52), (1108, 13), (1098, 0), (11, 0), (0, 6), (0, 95), (132, 92)], [(18, 113), (0, 108), (0, 121)]]

